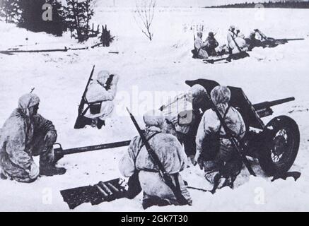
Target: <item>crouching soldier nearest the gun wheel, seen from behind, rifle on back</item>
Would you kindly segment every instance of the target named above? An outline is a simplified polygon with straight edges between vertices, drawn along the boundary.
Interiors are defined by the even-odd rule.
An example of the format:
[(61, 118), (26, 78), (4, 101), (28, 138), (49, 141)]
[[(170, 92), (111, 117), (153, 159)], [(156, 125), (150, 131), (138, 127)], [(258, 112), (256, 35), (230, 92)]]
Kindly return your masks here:
[[(216, 105), (223, 120), (238, 141), (245, 136), (245, 123), (240, 113), (228, 105), (231, 91), (225, 86), (216, 86), (211, 91), (211, 100)], [(213, 184), (233, 186), (233, 182), (243, 167), (240, 156), (233, 147), (221, 125), (216, 112), (207, 110), (197, 131), (197, 153), (194, 165), (204, 168), (206, 179)]]

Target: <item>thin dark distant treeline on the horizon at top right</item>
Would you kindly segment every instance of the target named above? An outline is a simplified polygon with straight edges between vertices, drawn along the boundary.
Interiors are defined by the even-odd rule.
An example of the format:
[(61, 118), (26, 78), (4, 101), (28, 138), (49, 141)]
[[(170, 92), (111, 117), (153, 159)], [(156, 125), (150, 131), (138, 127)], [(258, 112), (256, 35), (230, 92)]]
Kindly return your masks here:
[(264, 8), (309, 8), (309, 1), (277, 1), (277, 2), (264, 2), (264, 3), (240, 3), (228, 4), (223, 6), (210, 6), (205, 8), (255, 8), (257, 4), (262, 4)]

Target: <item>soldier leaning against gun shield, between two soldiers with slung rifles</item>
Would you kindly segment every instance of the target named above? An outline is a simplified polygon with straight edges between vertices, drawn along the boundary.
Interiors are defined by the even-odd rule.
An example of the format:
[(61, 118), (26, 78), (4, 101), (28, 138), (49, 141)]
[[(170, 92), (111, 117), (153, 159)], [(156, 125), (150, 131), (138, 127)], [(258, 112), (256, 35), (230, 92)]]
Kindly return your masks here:
[(175, 97), (173, 102), (163, 105), (161, 110), (171, 122), (185, 153), (193, 159), (195, 155), (195, 136), (202, 112), (206, 110), (206, 89), (202, 85), (193, 85), (187, 93)]

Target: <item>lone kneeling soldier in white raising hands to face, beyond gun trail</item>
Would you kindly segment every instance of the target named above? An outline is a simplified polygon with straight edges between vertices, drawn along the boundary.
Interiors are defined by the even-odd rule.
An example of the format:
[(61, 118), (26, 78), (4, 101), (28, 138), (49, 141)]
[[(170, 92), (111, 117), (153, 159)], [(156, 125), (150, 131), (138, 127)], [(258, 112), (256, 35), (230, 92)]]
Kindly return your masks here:
[(105, 126), (105, 119), (114, 109), (112, 101), (117, 93), (117, 83), (118, 76), (108, 71), (100, 71), (97, 78), (91, 81), (86, 93), (86, 99), (90, 105), (90, 114), (86, 117), (91, 119), (88, 124), (97, 126), (98, 129)]

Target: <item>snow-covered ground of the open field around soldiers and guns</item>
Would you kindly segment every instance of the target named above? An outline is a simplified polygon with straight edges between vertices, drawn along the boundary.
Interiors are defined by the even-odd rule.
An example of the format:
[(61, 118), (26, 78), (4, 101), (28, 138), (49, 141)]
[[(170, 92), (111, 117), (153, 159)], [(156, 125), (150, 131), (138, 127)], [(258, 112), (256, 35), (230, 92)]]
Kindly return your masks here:
[[(4, 124), (17, 106), (18, 97), (35, 87), (35, 93), (41, 99), (39, 111), (54, 122), (58, 142), (64, 148), (132, 138), (136, 130), (120, 108), (100, 131), (89, 127), (73, 129), (78, 103), (94, 64), (96, 72), (106, 69), (119, 74), (116, 105), (123, 105), (124, 95), (131, 97), (131, 102), (126, 102), (126, 105), (133, 110), (136, 109), (136, 103), (144, 104), (144, 107), (140, 106), (138, 111), (134, 111), (140, 122), (145, 105), (160, 107), (161, 104), (153, 104), (149, 92), (154, 96), (161, 91), (187, 90), (184, 82), (190, 79), (208, 78), (223, 85), (241, 87), (254, 103), (294, 96), (296, 101), (274, 107), (273, 117), (286, 114), (295, 119), (300, 127), (301, 145), (292, 167), (302, 173), (297, 182), (293, 182), (293, 179), (270, 182), (263, 176), (260, 167), (255, 166), (260, 177), (249, 177), (244, 169), (233, 190), (224, 188), (214, 195), (190, 190), (194, 201), (192, 207), (153, 207), (148, 210), (309, 210), (309, 30), (305, 23), (309, 14), (307, 10), (299, 9), (265, 9), (262, 14), (258, 13), (261, 11), (255, 9), (158, 8), (153, 23), (154, 40), (149, 42), (136, 26), (131, 8), (98, 6), (93, 22), (106, 23), (116, 37), (109, 48), (11, 56), (0, 54), (0, 124)], [(305, 40), (289, 42), (273, 49), (257, 48), (250, 53), (250, 58), (229, 64), (203, 64), (192, 59), (192, 25), (204, 25), (205, 35), (212, 30), (217, 33), (217, 40), (224, 43), (231, 23), (237, 25), (245, 35), (250, 30), (260, 28), (272, 37), (304, 37)], [(95, 42), (91, 40), (86, 44), (76, 44), (69, 34), (53, 37), (2, 22), (0, 32), (0, 50), (18, 45), (23, 45), (18, 47), (20, 49), (55, 49)], [(109, 54), (109, 51), (118, 51), (119, 54)], [(139, 95), (134, 96), (136, 90)], [(264, 121), (270, 119), (272, 117), (267, 117)], [(59, 165), (67, 168), (66, 174), (40, 177), (33, 184), (0, 181), (0, 210), (69, 210), (59, 191), (119, 177), (118, 161), (125, 151), (126, 148), (116, 148), (66, 156), (59, 161)], [(187, 168), (182, 174), (190, 186), (206, 188), (202, 172), (197, 167)], [(141, 196), (99, 206), (83, 204), (76, 210), (141, 211)]]

